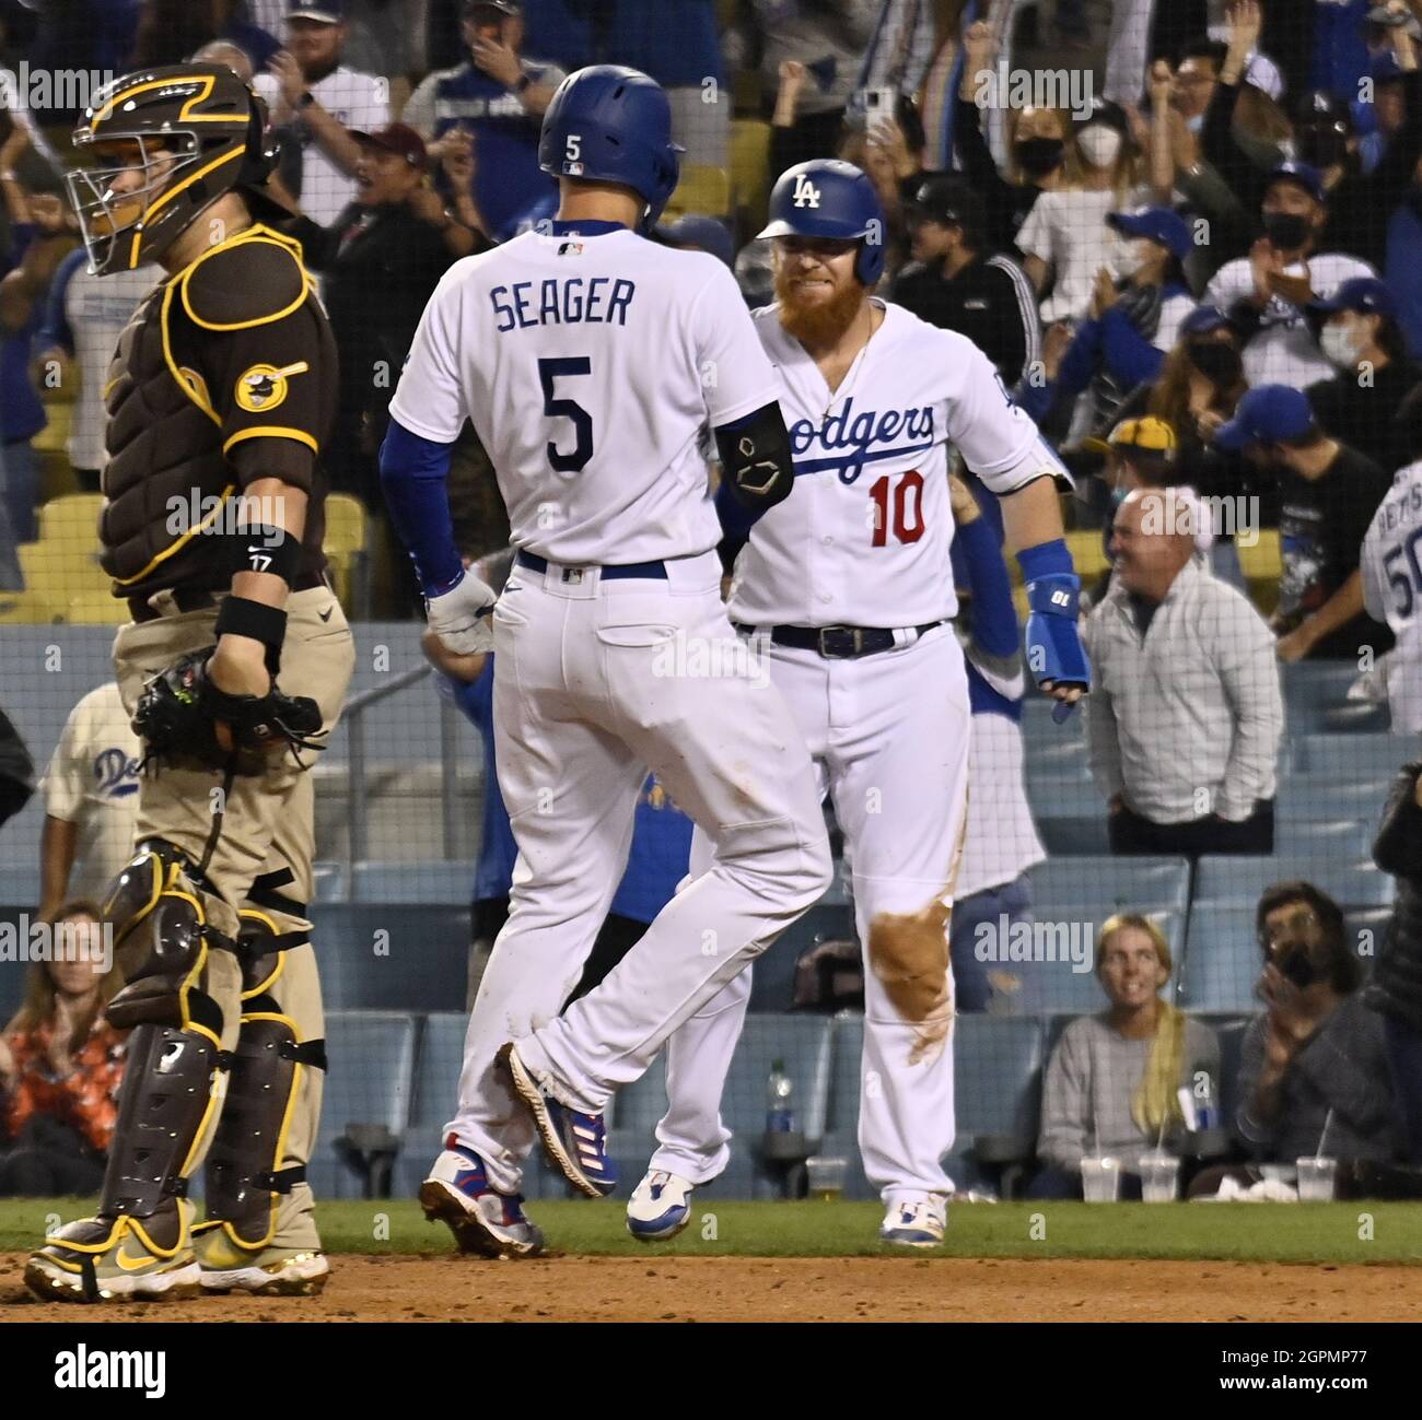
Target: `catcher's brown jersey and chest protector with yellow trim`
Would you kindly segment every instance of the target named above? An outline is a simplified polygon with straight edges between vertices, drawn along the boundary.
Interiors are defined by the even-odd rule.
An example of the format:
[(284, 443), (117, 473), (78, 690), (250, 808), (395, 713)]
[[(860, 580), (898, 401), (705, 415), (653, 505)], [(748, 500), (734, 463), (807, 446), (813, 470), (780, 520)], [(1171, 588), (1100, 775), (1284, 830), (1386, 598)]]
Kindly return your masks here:
[(229, 503), (264, 478), (309, 497), (293, 586), (316, 583), (336, 374), (300, 247), (269, 227), (246, 227), (154, 289), (105, 388), (100, 560), (115, 597), (226, 590), (237, 550)]

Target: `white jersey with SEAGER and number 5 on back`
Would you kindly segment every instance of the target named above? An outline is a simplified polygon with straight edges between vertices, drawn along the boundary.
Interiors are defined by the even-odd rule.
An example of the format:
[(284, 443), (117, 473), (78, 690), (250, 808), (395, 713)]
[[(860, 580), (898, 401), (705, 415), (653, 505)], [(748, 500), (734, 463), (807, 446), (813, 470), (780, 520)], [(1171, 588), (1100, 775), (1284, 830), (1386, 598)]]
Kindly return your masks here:
[(441, 443), (474, 422), (516, 547), (626, 564), (715, 547), (698, 434), (774, 398), (721, 262), (619, 229), (526, 232), (456, 262), (390, 408)]

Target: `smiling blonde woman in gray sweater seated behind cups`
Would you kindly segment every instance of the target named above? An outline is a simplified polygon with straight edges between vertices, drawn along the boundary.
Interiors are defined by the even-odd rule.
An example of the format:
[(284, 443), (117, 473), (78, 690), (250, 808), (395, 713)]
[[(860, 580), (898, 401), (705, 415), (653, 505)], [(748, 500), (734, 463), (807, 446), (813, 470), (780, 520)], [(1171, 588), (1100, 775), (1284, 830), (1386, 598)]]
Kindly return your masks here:
[(1030, 1198), (1079, 1198), (1081, 1160), (1122, 1163), (1122, 1195), (1139, 1197), (1143, 1153), (1179, 1149), (1185, 1130), (1179, 1090), (1207, 1075), (1216, 1100), (1220, 1043), (1160, 995), (1170, 979), (1170, 947), (1139, 913), (1109, 918), (1096, 938), (1096, 979), (1109, 1008), (1062, 1032), (1047, 1066), (1037, 1144), (1042, 1170)]

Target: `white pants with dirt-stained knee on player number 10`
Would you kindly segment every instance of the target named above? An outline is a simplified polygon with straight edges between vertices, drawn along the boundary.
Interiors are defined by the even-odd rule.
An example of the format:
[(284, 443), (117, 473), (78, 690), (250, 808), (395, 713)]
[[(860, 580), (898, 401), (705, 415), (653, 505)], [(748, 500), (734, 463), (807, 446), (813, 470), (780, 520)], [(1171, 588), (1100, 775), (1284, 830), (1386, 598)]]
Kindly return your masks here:
[[(910, 633), (912, 635), (912, 633)], [(953, 982), (948, 915), (967, 819), (971, 711), (951, 627), (857, 661), (771, 647), (853, 874), (865, 944), (859, 1151), (886, 1204), (950, 1193)], [(693, 870), (702, 850), (693, 837)], [(742, 972), (671, 1038), (651, 1168), (707, 1183), (731, 1137), (721, 1090), (751, 994)]]

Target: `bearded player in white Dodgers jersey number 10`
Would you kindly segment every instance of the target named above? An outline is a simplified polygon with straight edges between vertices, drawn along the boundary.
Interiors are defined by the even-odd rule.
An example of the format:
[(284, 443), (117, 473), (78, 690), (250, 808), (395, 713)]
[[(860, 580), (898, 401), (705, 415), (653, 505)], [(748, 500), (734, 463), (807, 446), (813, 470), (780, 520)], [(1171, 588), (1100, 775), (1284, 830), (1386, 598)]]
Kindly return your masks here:
[[(870, 294), (884, 213), (865, 173), (791, 168), (769, 216), (778, 301), (755, 328), (779, 374), (795, 489), (751, 529), (729, 613), (764, 648), (845, 832), (866, 958), (859, 1147), (887, 1208), (880, 1237), (933, 1247), (953, 1190), (948, 928), (971, 719), (948, 624), (948, 445), (1001, 496), (1031, 604), (1027, 664), (1059, 715), (1089, 679), (1065, 470), (977, 345)], [(725, 1167), (721, 1087), (748, 998), (742, 972), (673, 1038), (661, 1147), (627, 1205), (634, 1237), (678, 1232), (691, 1190)]]

